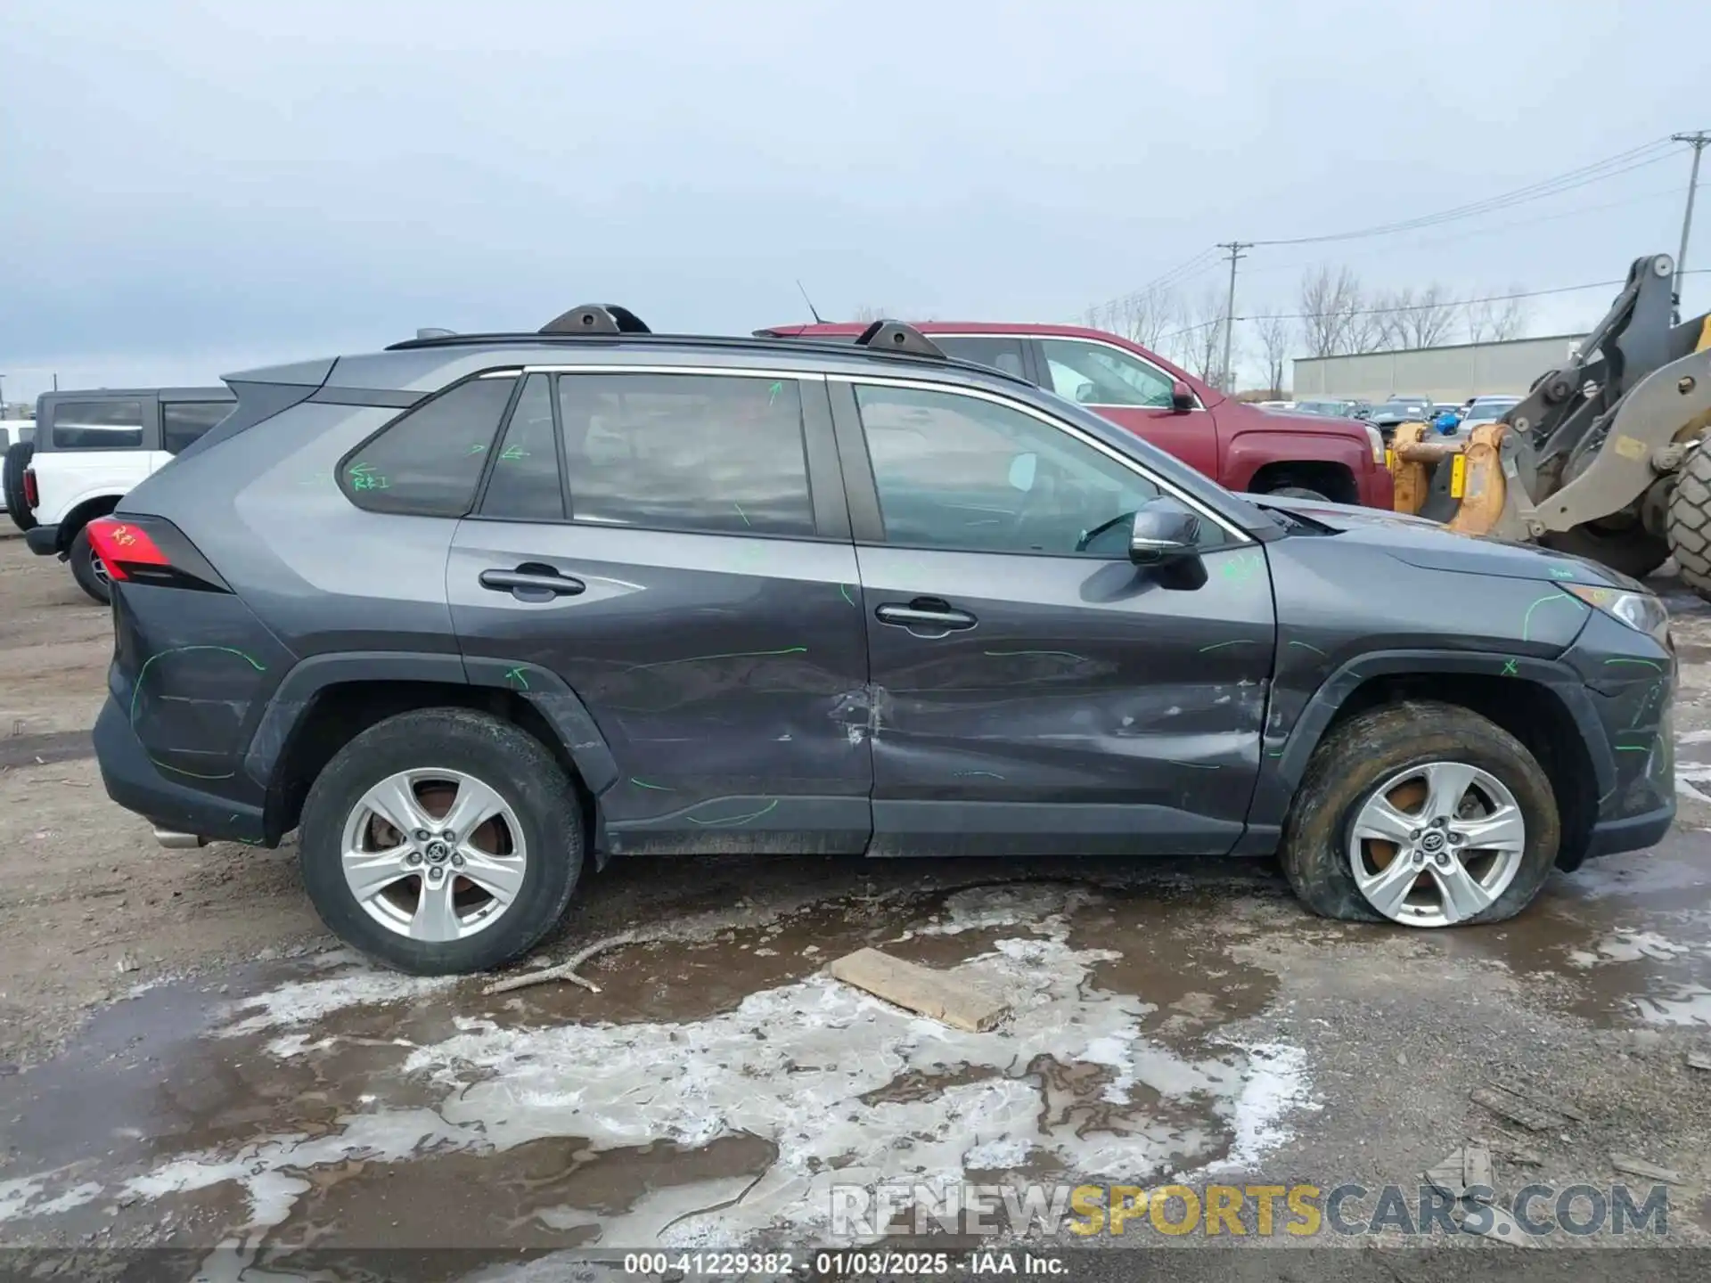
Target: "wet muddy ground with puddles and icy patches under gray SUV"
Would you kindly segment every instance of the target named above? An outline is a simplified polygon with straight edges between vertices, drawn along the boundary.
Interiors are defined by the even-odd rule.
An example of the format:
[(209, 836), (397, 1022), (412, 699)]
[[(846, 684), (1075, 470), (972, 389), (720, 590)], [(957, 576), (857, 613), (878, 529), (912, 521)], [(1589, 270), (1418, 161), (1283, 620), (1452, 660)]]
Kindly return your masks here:
[[(590, 963), (597, 994), (486, 996), (337, 949), (293, 847), (161, 850), (110, 804), (86, 736), (108, 614), (9, 532), (0, 1244), (173, 1245), (185, 1276), (455, 1245), (411, 1269), (450, 1278), (518, 1249), (825, 1242), (833, 1185), (1413, 1189), (1470, 1139), (1501, 1197), (1608, 1187), (1612, 1153), (1670, 1168), (1668, 1240), (1711, 1244), (1711, 611), (1660, 587), (1677, 831), (1511, 924), (1331, 924), (1263, 864), (631, 859), (541, 956), (674, 939)], [(1016, 1018), (958, 1033), (823, 975), (862, 944)], [(1536, 1127), (1470, 1100), (1492, 1085)]]

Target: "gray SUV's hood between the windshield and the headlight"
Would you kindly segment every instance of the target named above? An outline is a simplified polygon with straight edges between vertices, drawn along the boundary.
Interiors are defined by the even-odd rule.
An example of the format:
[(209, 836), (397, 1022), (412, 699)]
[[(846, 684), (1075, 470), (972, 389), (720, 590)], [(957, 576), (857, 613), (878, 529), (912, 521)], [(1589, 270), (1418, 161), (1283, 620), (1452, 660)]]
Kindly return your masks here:
[[(1410, 517), (1406, 513), (1384, 511), (1382, 508), (1360, 508), (1352, 503), (1287, 500), (1276, 494), (1256, 494), (1252, 501), (1261, 510), (1302, 518), (1324, 527), (1336, 539), (1371, 546), (1374, 553), (1382, 553), (1403, 565), (1422, 570), (1651, 592), (1651, 588), (1637, 580), (1619, 575), (1596, 561), (1535, 544), (1514, 544), (1507, 539), (1458, 534), (1425, 517)], [(1305, 537), (1311, 539), (1314, 535)]]

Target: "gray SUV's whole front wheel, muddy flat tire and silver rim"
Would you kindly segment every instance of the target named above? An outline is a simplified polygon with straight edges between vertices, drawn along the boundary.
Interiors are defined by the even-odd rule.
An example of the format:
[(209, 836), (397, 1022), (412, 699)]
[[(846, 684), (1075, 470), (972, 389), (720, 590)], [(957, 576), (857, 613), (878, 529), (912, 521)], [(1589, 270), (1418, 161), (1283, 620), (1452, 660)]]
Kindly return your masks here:
[[(1465, 818), (1436, 826), (1429, 780), (1441, 770), (1473, 783), (1461, 801)], [(1410, 773), (1420, 778), (1412, 795), (1412, 782), (1394, 783)], [(1461, 792), (1454, 795), (1463, 799)], [(1389, 814), (1371, 809), (1377, 802), (1420, 828), (1403, 825), (1396, 843), (1359, 838), (1357, 833), (1372, 831), (1369, 823), (1377, 814)], [(1487, 831), (1492, 843), (1497, 842), (1501, 819), (1502, 840), (1513, 850), (1477, 845)], [(1434, 831), (1442, 835), (1436, 845), (1429, 837)], [(1290, 888), (1323, 917), (1463, 925), (1519, 913), (1550, 874), (1559, 837), (1555, 794), (1526, 746), (1468, 708), (1417, 700), (1359, 713), (1319, 746), (1295, 794), (1278, 855)], [(1468, 838), (1475, 845), (1468, 845)], [(1384, 859), (1386, 847), (1393, 850), (1389, 859)], [(1410, 850), (1420, 852), (1415, 860), (1420, 872), (1408, 878), (1408, 866), (1394, 864), (1400, 876), (1386, 883), (1384, 871), (1393, 860), (1413, 859)], [(1446, 852), (1449, 864), (1439, 876), (1436, 867)], [(1357, 881), (1357, 860), (1371, 890)], [(1451, 884), (1454, 896), (1444, 890)], [(1374, 905), (1391, 895), (1396, 898), (1389, 912), (1379, 912)], [(1444, 920), (1434, 920), (1434, 900), (1436, 917)]]

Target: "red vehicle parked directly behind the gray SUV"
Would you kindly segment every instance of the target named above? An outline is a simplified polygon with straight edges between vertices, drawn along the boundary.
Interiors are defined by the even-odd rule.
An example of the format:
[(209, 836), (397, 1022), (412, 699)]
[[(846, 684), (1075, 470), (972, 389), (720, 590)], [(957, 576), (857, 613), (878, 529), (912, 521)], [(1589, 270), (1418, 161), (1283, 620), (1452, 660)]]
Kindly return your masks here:
[[(1384, 441), (1357, 419), (1246, 405), (1128, 339), (1080, 325), (914, 325), (948, 356), (1021, 375), (1080, 402), (1227, 489), (1391, 506)], [(854, 340), (864, 328), (777, 325), (760, 334)]]

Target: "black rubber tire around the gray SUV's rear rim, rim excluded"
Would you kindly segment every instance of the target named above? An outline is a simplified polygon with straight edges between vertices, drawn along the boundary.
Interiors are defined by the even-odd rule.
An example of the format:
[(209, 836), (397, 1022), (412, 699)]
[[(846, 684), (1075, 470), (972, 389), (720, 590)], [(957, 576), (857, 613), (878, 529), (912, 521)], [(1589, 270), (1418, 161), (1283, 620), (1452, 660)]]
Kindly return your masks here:
[[(342, 869), (344, 825), (363, 794), (388, 775), (424, 768), (464, 772), (498, 792), (529, 852), (510, 907), (448, 943), (409, 939), (371, 919)], [(371, 725), (334, 754), (303, 804), (299, 850), (310, 900), (342, 941), (412, 975), (464, 975), (510, 961), (565, 915), (582, 874), (582, 814), (565, 772), (534, 736), (488, 713), (424, 708)]]

